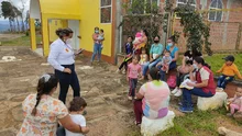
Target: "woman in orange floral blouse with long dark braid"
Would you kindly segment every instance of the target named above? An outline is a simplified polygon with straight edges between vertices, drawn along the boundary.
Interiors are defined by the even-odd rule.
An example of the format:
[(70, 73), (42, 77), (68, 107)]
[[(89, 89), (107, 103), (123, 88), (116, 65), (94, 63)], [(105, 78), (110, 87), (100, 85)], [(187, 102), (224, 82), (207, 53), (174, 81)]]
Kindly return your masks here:
[(22, 103), (24, 121), (18, 136), (55, 136), (58, 122), (73, 133), (82, 133), (75, 124), (65, 104), (52, 98), (58, 79), (51, 73), (43, 75), (37, 83), (37, 93), (30, 94)]

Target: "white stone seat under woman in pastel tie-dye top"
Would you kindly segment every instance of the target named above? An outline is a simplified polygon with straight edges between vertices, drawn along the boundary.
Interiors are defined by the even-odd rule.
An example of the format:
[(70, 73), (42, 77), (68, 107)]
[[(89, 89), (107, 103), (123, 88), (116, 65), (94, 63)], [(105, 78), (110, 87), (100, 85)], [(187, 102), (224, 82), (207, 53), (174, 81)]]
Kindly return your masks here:
[(168, 111), (168, 114), (158, 120), (150, 120), (145, 116), (142, 118), (141, 124), (141, 134), (143, 136), (155, 136), (165, 129), (173, 127), (173, 120), (175, 117), (175, 113), (173, 111)]

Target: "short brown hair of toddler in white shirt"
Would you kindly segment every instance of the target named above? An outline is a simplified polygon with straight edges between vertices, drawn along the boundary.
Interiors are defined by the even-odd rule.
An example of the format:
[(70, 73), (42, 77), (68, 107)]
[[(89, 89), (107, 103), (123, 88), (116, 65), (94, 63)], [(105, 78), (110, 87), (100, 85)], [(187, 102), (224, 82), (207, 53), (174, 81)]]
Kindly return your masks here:
[(86, 106), (87, 102), (82, 98), (75, 97), (73, 101), (69, 103), (69, 112), (78, 112), (81, 107)]

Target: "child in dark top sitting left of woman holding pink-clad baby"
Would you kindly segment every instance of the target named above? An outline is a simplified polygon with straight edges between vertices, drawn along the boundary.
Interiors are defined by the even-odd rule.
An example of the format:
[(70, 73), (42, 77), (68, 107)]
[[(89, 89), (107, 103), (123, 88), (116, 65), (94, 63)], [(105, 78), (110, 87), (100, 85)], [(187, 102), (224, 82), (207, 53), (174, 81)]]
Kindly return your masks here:
[(132, 54), (133, 54), (133, 43), (132, 43), (132, 41), (133, 41), (133, 37), (129, 36), (128, 39), (127, 39), (127, 43), (124, 45), (125, 56), (124, 56), (123, 63), (120, 65), (119, 69), (116, 72), (120, 72), (121, 69), (123, 68), (123, 66), (124, 66), (123, 73), (127, 72), (128, 63), (132, 59)]

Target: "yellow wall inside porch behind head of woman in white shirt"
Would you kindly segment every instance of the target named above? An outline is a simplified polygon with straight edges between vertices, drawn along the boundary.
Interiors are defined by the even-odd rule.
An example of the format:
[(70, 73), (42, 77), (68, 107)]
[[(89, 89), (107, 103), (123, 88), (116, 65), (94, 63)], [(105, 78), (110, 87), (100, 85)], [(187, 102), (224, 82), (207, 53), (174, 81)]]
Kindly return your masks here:
[(66, 20), (48, 20), (50, 42), (54, 42), (58, 38), (58, 36), (55, 34), (56, 30), (67, 26), (68, 25)]

